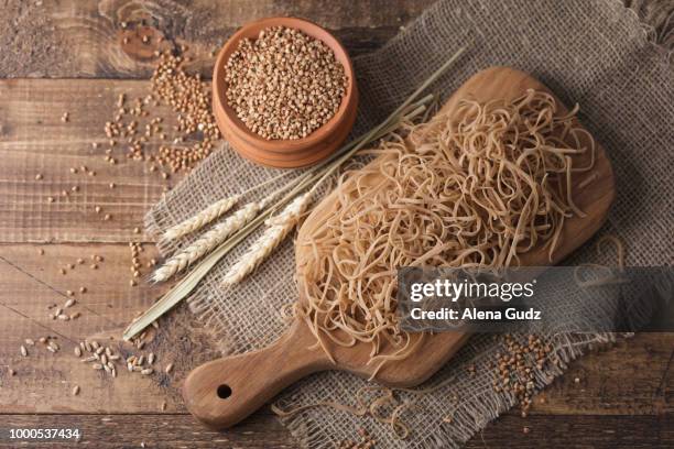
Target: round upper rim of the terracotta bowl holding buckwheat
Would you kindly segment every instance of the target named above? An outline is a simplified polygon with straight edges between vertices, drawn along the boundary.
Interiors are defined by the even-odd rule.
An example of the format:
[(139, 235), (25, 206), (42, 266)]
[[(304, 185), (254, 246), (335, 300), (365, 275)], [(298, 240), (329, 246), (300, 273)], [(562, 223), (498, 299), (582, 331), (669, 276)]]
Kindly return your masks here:
[[(326, 39), (319, 39), (323, 43), (325, 43), (334, 53), (337, 61), (344, 66), (345, 75), (347, 76), (347, 90), (341, 98), (341, 102), (339, 103), (339, 108), (337, 112), (328, 120), (327, 123), (314, 130), (309, 135), (302, 139), (294, 140), (267, 140), (261, 138), (257, 133), (252, 132), (248, 129), (248, 127), (237, 117), (235, 111), (228, 105), (227, 99), (225, 98), (225, 64), (231, 53), (238, 46), (238, 43), (241, 39), (246, 37), (251, 29), (256, 28), (268, 28), (268, 26), (276, 26), (283, 25), (287, 28), (294, 28), (296, 30), (307, 32), (311, 31), (311, 34), (314, 39), (319, 39), (314, 36), (313, 34), (322, 34), (325, 33)], [(257, 20), (253, 22), (249, 22), (246, 25), (241, 26), (235, 34), (229, 37), (229, 40), (225, 43), (222, 48), (220, 50), (218, 57), (216, 58), (216, 64), (214, 67), (213, 74), (213, 89), (214, 89), (214, 107), (219, 108), (222, 112), (222, 118), (225, 119), (225, 125), (230, 128), (230, 132), (238, 134), (243, 141), (256, 145), (260, 149), (269, 149), (268, 151), (274, 151), (279, 153), (294, 153), (296, 151), (303, 151), (306, 147), (313, 146), (323, 140), (326, 136), (330, 135), (335, 132), (341, 123), (346, 120), (346, 116), (349, 112), (349, 103), (354, 100), (354, 96), (356, 90), (356, 78), (354, 76), (354, 64), (349, 54), (347, 53), (344, 45), (335, 37), (329, 31), (325, 30), (320, 25), (317, 25), (314, 22), (311, 22), (305, 19), (293, 18), (293, 17), (274, 17), (274, 18), (265, 18), (261, 20)]]

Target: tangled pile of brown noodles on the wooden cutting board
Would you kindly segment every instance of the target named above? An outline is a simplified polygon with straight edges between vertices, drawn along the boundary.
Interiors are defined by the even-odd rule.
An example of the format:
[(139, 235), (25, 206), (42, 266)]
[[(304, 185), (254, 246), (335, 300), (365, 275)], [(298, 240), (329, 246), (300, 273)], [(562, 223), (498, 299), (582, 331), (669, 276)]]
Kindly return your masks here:
[[(378, 163), (340, 177), (335, 211), (297, 242), (312, 254), (307, 300), (295, 311), (328, 355), (330, 346), (365, 342), (379, 369), (414, 350), (398, 326), (398, 267), (498, 269), (540, 245), (552, 258), (564, 221), (584, 216), (572, 177), (595, 160), (577, 107), (556, 109), (534, 90), (510, 102), (464, 101), (453, 119), (410, 125), (371, 151)], [(584, 166), (573, 166), (580, 153)]]

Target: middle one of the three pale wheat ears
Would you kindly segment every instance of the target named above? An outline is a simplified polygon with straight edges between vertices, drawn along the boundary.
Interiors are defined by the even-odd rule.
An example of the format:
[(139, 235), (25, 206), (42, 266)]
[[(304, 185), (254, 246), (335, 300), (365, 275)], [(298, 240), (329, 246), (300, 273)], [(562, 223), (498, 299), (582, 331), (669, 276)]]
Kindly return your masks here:
[(267, 200), (252, 201), (233, 212), (225, 221), (216, 225), (211, 230), (195, 240), (189, 247), (168, 259), (160, 269), (152, 274), (152, 281), (163, 282), (174, 274), (183, 271), (195, 261), (203, 258), (214, 248), (222, 243), (227, 238), (249, 221), (267, 205)]

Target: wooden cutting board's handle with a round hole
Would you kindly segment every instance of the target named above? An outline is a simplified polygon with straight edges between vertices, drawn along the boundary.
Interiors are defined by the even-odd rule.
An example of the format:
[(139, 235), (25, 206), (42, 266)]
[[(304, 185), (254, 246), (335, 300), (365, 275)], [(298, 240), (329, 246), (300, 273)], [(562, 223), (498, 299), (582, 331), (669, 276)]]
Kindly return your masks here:
[(295, 321), (264, 349), (196, 368), (183, 385), (187, 409), (210, 427), (233, 426), (293, 382), (330, 366), (320, 349), (309, 349), (315, 341), (306, 325)]

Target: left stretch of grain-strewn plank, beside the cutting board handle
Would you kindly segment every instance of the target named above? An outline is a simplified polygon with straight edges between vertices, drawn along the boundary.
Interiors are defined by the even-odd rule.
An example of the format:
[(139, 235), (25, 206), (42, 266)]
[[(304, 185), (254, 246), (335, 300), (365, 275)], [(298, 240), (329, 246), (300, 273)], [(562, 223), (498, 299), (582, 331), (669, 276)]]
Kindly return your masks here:
[[(150, 247), (141, 261), (156, 256)], [(39, 248), (44, 255), (39, 254)], [(91, 254), (104, 256), (98, 270), (89, 267)], [(86, 263), (78, 265), (78, 258)], [(68, 263), (75, 269), (61, 274), (58, 270)], [(160, 330), (149, 332), (143, 350), (122, 342), (126, 326), (166, 288), (130, 286), (129, 264), (130, 251), (123, 244), (0, 245), (0, 410), (154, 413), (164, 401), (171, 412), (184, 409), (177, 385), (192, 366), (215, 357), (210, 340), (183, 309), (160, 320)], [(149, 269), (143, 267), (142, 273)], [(80, 286), (87, 292), (79, 293)], [(52, 319), (54, 308), (47, 307), (63, 307), (68, 289), (75, 292), (77, 304), (67, 313), (79, 311), (81, 316), (69, 321)], [(55, 338), (61, 351), (52, 353), (36, 343), (26, 346), (29, 357), (21, 355), (24, 339), (37, 341), (46, 336)], [(153, 352), (156, 373), (152, 379), (129, 373), (123, 361), (118, 362), (117, 379), (94, 371), (73, 352), (85, 339), (107, 344), (123, 358)], [(175, 368), (167, 375), (163, 369), (168, 363)], [(9, 374), (10, 369), (15, 375)], [(70, 394), (74, 385), (81, 387), (77, 396)]]

